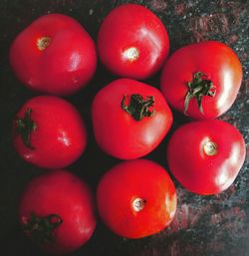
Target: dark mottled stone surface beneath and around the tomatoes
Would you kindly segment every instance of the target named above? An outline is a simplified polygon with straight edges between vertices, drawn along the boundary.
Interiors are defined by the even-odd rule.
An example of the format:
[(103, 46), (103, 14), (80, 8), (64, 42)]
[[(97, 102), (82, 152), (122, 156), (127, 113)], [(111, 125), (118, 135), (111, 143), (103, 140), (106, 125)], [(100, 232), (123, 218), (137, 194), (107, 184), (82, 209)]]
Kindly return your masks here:
[[(205, 39), (227, 43), (239, 56), (244, 81), (233, 107), (221, 117), (238, 128), (247, 142), (247, 160), (234, 184), (218, 195), (199, 196), (183, 189), (175, 180), (177, 213), (172, 224), (154, 236), (127, 240), (112, 234), (99, 220), (92, 239), (72, 255), (88, 256), (247, 256), (249, 255), (249, 1), (225, 0), (0, 0), (0, 254), (4, 256), (46, 255), (22, 233), (17, 207), (26, 183), (43, 170), (25, 163), (13, 150), (12, 119), (34, 93), (14, 77), (8, 63), (8, 49), (15, 36), (37, 17), (64, 13), (76, 18), (94, 39), (103, 18), (124, 2), (140, 3), (155, 12), (165, 24), (170, 50)], [(146, 81), (157, 87), (159, 75)], [(68, 169), (96, 189), (102, 174), (119, 160), (104, 154), (91, 131), (90, 105), (96, 92), (115, 77), (99, 65), (90, 85), (67, 98), (88, 124), (87, 152)], [(174, 113), (172, 130), (187, 122)], [(169, 134), (170, 135), (170, 134)], [(164, 150), (168, 136), (146, 158), (166, 167)]]

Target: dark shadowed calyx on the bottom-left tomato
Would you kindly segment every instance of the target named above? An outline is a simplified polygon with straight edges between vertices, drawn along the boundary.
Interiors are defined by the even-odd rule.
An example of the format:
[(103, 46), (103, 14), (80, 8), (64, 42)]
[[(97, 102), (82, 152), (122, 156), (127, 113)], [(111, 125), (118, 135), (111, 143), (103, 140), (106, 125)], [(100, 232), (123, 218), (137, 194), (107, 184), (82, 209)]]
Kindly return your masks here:
[(34, 212), (31, 213), (30, 218), (23, 218), (22, 221), (24, 231), (41, 245), (55, 242), (54, 231), (63, 223), (63, 219), (58, 214), (39, 217)]

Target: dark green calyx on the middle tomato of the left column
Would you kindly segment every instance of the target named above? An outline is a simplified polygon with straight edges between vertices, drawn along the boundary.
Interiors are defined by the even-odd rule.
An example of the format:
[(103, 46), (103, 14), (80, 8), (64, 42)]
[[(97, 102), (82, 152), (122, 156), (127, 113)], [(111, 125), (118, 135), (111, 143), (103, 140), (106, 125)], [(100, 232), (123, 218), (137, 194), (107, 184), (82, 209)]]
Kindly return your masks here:
[(25, 112), (24, 118), (16, 118), (16, 130), (17, 133), (21, 135), (24, 144), (34, 149), (30, 143), (31, 132), (37, 128), (36, 123), (31, 119), (32, 109), (28, 108)]

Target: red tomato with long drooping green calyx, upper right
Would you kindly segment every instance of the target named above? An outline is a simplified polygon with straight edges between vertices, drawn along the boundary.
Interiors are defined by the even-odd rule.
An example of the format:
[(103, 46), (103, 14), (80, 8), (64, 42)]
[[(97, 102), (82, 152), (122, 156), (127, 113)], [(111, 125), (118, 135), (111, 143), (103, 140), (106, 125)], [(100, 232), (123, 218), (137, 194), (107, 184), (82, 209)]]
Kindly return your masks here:
[(174, 109), (197, 120), (215, 119), (236, 99), (242, 68), (226, 45), (206, 41), (184, 46), (168, 59), (161, 90)]

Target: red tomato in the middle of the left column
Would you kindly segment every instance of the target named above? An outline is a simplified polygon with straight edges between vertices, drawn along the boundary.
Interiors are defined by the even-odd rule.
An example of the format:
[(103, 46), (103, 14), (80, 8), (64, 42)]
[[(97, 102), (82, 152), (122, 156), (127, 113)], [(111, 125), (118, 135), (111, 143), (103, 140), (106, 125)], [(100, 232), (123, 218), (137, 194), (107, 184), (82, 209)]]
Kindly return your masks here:
[(53, 96), (26, 102), (14, 121), (14, 145), (28, 162), (62, 168), (80, 157), (87, 145), (84, 122), (73, 105)]

